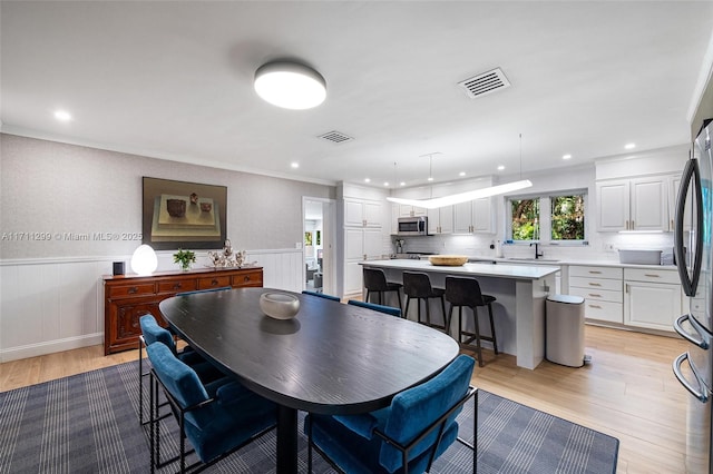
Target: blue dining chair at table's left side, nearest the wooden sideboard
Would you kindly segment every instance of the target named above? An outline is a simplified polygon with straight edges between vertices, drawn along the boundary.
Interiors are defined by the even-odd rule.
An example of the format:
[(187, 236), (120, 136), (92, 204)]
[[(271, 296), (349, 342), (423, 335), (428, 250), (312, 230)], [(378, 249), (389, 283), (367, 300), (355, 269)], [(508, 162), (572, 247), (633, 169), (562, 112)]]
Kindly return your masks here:
[(155, 343), (162, 343), (170, 349), (170, 352), (184, 363), (194, 367), (199, 374), (201, 379), (204, 382), (211, 382), (221, 378), (224, 374), (215, 368), (211, 363), (204, 359), (198, 353), (193, 350), (189, 346), (186, 346), (184, 350), (178, 352), (174, 336), (168, 329), (163, 328), (156, 322), (153, 315), (144, 315), (138, 318), (138, 324), (141, 327), (141, 335), (138, 337), (138, 419), (141, 425), (144, 422), (144, 377), (148, 375), (148, 372), (144, 372), (144, 347), (150, 346)]

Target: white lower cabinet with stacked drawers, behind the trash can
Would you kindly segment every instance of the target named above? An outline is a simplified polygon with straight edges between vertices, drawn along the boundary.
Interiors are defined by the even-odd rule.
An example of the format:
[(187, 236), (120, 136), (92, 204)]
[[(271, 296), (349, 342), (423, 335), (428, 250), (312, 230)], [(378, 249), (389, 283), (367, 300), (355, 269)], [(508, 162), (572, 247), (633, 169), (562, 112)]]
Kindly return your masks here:
[(569, 267), (569, 294), (585, 299), (585, 318), (617, 324), (624, 322), (622, 276), (622, 268)]

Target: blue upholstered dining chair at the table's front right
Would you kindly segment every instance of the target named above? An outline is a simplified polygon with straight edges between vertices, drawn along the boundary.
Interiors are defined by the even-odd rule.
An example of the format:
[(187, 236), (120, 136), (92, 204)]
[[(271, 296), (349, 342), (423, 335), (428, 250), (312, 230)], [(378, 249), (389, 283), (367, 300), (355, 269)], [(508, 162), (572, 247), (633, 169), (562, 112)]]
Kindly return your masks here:
[[(437, 376), (403, 391), (391, 405), (363, 415), (315, 415), (305, 418), (309, 472), (312, 448), (343, 473), (422, 473), (458, 440), (478, 445), (478, 391), (470, 386), (472, 357), (460, 355)], [(472, 444), (458, 437), (456, 416), (475, 398)]]

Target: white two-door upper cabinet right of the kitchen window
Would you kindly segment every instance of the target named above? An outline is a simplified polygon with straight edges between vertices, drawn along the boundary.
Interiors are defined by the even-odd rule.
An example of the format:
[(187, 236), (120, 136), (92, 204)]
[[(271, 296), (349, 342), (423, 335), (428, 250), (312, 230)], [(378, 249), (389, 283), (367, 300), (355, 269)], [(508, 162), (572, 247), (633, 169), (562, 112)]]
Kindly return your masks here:
[(670, 230), (667, 177), (597, 181), (597, 229)]

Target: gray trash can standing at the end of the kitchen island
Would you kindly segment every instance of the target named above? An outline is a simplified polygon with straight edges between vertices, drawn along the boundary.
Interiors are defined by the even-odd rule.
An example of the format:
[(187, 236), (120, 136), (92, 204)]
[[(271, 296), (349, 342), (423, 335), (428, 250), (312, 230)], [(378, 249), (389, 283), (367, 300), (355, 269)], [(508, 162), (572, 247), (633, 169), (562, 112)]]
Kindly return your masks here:
[(569, 367), (582, 367), (584, 355), (584, 298), (572, 295), (547, 297), (545, 358)]

